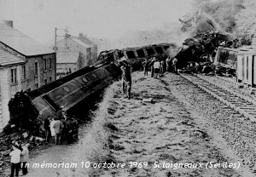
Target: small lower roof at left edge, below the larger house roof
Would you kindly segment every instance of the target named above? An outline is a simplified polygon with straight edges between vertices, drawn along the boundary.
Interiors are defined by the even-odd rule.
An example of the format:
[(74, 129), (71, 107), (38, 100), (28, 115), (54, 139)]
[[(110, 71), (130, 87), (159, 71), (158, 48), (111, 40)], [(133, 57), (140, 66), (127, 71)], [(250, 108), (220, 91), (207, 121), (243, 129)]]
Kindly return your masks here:
[(0, 48), (0, 66), (10, 66), (21, 63), (25, 63), (25, 60), (22, 60), (15, 56), (15, 54), (10, 54), (9, 52)]

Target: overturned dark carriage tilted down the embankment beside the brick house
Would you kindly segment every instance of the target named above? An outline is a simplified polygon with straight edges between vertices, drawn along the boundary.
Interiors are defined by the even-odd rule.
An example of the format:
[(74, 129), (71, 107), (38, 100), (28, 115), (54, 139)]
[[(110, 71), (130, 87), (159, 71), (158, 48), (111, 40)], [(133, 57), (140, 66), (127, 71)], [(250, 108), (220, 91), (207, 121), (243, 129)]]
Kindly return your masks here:
[(114, 64), (98, 68), (84, 67), (32, 91), (29, 95), (43, 117), (59, 116), (61, 107), (68, 114), (81, 117), (86, 110), (85, 105), (91, 105), (86, 100), (118, 79), (120, 74), (119, 68)]

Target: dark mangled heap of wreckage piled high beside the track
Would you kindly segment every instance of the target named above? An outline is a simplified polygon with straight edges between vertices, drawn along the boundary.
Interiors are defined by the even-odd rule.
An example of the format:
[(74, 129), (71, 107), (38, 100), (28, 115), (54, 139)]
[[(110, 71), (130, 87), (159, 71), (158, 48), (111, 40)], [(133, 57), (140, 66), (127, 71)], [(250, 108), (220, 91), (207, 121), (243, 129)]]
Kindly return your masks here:
[(177, 59), (176, 67), (180, 71), (208, 73), (214, 70), (213, 60), (218, 47), (230, 48), (234, 45), (236, 40), (230, 34), (209, 30), (187, 38), (172, 60)]

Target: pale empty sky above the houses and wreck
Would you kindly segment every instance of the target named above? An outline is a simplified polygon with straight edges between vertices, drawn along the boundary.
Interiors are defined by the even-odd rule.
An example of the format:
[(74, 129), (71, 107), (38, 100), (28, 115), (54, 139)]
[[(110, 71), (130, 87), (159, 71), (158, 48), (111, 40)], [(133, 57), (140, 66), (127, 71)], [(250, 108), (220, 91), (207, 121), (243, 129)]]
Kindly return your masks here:
[[(128, 31), (178, 22), (193, 0), (0, 0), (0, 20), (39, 43), (54, 43), (55, 27), (73, 36), (116, 39)], [(58, 30), (59, 36), (63, 30)]]

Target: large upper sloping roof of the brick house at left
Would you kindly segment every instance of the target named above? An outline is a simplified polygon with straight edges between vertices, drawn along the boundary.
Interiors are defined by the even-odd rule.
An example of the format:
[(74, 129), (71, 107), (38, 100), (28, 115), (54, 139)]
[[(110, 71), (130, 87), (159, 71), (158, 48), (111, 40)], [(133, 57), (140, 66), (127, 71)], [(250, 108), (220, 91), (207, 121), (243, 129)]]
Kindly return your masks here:
[(55, 52), (5, 24), (0, 24), (0, 42), (26, 56), (52, 54)]

